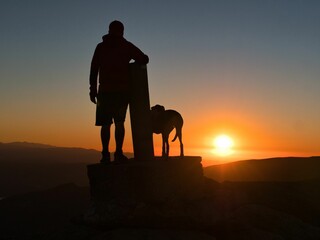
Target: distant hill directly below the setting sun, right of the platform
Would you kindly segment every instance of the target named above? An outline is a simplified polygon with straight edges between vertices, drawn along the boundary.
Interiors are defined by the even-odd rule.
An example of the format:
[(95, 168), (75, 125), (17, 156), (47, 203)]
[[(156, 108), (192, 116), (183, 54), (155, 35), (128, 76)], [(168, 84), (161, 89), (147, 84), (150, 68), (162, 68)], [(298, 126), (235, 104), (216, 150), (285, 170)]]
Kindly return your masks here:
[(320, 179), (320, 157), (246, 160), (204, 168), (216, 181), (305, 181)]

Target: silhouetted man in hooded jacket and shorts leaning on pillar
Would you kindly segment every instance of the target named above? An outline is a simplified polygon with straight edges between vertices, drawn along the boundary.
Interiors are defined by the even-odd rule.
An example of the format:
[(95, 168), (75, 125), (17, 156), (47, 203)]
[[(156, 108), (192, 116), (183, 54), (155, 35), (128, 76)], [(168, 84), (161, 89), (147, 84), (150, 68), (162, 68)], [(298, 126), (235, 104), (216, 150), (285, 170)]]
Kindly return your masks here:
[[(124, 37), (119, 21), (109, 25), (108, 34), (95, 49), (90, 69), (90, 100), (96, 104), (96, 126), (101, 126), (102, 163), (110, 163), (110, 127), (115, 123), (115, 162), (128, 160), (123, 155), (124, 121), (129, 104), (129, 62), (147, 64), (149, 58)], [(97, 78), (99, 75), (99, 88)]]

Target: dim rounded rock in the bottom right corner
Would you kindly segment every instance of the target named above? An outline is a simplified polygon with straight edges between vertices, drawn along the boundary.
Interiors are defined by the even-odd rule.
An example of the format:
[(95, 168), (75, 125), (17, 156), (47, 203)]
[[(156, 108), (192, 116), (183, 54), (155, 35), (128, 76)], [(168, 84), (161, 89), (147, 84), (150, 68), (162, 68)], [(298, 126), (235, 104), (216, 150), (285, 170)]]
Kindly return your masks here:
[(265, 206), (248, 204), (234, 210), (215, 226), (218, 239), (312, 239), (320, 237), (320, 228), (295, 216)]

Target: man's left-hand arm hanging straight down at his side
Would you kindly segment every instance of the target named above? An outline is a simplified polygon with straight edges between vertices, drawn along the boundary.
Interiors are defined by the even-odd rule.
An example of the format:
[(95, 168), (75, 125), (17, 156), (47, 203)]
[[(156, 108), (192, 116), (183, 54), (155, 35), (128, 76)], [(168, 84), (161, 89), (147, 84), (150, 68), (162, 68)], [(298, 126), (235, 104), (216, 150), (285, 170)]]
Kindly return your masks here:
[(89, 84), (90, 84), (90, 100), (94, 104), (97, 103), (96, 97), (98, 95), (97, 90), (97, 81), (98, 81), (98, 73), (99, 73), (99, 57), (98, 57), (98, 46), (96, 47), (92, 60), (91, 60), (91, 67), (90, 67), (90, 77), (89, 77)]

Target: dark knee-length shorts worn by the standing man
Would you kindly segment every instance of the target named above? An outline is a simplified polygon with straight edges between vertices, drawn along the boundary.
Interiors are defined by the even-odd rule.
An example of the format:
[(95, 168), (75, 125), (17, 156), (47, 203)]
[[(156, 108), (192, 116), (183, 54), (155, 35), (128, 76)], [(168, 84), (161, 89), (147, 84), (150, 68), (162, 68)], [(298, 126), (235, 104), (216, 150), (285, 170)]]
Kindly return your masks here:
[(110, 125), (113, 122), (124, 122), (129, 96), (127, 93), (99, 93), (96, 108), (96, 126)]

